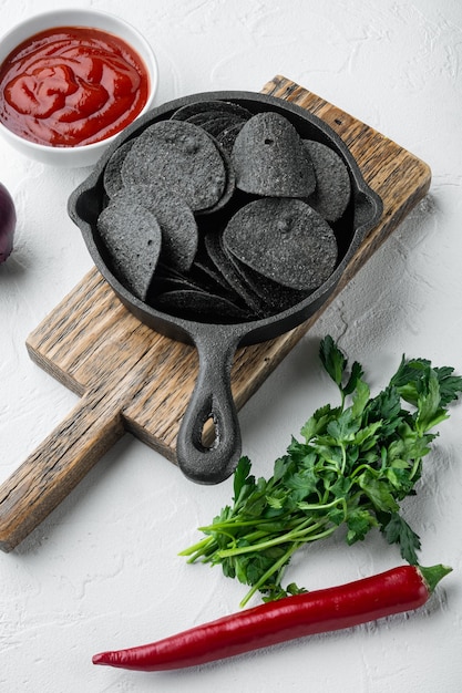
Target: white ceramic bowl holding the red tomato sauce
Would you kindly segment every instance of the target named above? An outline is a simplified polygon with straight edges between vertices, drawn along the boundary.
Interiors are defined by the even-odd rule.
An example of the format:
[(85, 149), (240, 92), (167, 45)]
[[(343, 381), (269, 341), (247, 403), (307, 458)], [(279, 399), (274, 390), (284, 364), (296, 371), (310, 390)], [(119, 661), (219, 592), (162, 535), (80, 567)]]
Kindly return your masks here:
[[(157, 90), (158, 70), (155, 54), (144, 39), (144, 37), (123, 19), (105, 12), (94, 10), (53, 10), (43, 12), (27, 19), (17, 24), (6, 35), (0, 39), (0, 64), (22, 41), (29, 39), (40, 31), (53, 29), (54, 27), (91, 27), (102, 29), (117, 35), (129, 43), (143, 60), (150, 75), (150, 92), (147, 102), (140, 113), (142, 115), (153, 105), (153, 100)], [(117, 133), (119, 134), (119, 133)], [(104, 149), (117, 136), (113, 135), (94, 144), (53, 147), (49, 145), (35, 144), (8, 130), (0, 123), (0, 135), (4, 137), (18, 152), (35, 161), (54, 166), (92, 166), (100, 158)]]

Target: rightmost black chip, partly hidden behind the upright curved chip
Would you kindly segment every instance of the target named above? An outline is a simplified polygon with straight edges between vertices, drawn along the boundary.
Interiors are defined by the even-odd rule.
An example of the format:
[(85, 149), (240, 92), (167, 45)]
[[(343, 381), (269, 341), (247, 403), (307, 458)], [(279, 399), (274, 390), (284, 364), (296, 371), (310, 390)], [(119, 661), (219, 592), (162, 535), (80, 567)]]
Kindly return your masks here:
[(316, 188), (307, 203), (327, 221), (337, 221), (345, 214), (351, 196), (348, 168), (342, 158), (327, 145), (304, 139), (315, 167)]

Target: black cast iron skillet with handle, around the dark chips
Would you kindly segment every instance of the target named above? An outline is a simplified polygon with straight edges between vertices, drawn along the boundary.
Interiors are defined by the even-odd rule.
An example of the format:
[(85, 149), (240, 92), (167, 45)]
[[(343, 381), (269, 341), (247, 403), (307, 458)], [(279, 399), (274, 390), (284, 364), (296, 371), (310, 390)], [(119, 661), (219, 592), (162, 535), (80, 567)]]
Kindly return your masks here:
[[(333, 148), (345, 161), (351, 179), (352, 196), (342, 218), (339, 262), (330, 278), (308, 298), (270, 318), (233, 324), (211, 324), (186, 320), (155, 310), (134, 297), (114, 277), (104, 261), (96, 219), (104, 205), (103, 172), (113, 152), (136, 137), (147, 125), (168, 118), (178, 107), (209, 100), (230, 101), (253, 113), (276, 111), (287, 117), (301, 137), (316, 139)], [(240, 456), (240, 431), (230, 389), (230, 370), (238, 346), (274, 339), (314, 314), (338, 285), (345, 268), (358, 250), (367, 232), (381, 217), (380, 197), (365, 183), (362, 175), (341, 138), (321, 120), (305, 108), (274, 96), (253, 92), (205, 92), (168, 102), (146, 113), (129, 126), (101, 157), (93, 172), (71, 195), (69, 214), (79, 226), (89, 252), (104, 279), (123, 304), (141, 322), (172, 339), (193, 343), (199, 358), (194, 392), (179, 428), (177, 463), (189, 479), (217, 484), (235, 469)], [(215, 439), (211, 447), (202, 442), (204, 424), (212, 418)]]

